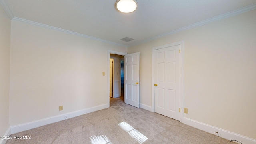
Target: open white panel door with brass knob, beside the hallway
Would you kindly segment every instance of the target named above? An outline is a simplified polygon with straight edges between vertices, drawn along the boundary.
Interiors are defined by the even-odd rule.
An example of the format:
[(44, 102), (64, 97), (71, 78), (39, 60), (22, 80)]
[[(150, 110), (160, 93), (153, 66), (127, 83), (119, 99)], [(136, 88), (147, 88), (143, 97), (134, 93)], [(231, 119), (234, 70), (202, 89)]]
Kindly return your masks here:
[(124, 56), (124, 102), (140, 107), (140, 52)]

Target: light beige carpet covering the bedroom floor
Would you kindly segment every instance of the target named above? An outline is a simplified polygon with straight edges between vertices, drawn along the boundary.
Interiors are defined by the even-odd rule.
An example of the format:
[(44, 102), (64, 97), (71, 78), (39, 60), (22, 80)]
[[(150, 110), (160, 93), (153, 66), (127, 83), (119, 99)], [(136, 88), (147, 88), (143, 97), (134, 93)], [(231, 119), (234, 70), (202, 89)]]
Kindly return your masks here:
[(6, 144), (236, 144), (157, 113), (110, 98), (110, 108), (32, 130)]

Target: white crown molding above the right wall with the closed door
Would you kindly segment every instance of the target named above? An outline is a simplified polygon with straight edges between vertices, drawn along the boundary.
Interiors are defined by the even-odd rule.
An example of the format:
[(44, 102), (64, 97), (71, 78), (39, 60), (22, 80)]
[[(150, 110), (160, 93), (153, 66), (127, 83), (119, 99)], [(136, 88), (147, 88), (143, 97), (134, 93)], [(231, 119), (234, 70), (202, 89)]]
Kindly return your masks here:
[(136, 44), (128, 45), (128, 48), (131, 47), (131, 46), (135, 46), (135, 45), (138, 45), (138, 44), (142, 44), (142, 43), (144, 43), (144, 42), (148, 42), (148, 41), (150, 41), (150, 40), (155, 40), (155, 39), (158, 39), (158, 38), (162, 38), (162, 37), (164, 37), (164, 36), (169, 36), (169, 35), (172, 35), (172, 34), (176, 34), (176, 33), (178, 33), (178, 32), (182, 32), (182, 31), (184, 31), (184, 30), (188, 30), (188, 29), (191, 29), (191, 28), (196, 28), (196, 27), (198, 27), (198, 26), (203, 26), (203, 25), (205, 25), (205, 24), (208, 24), (208, 23), (211, 23), (211, 22), (215, 22), (215, 21), (217, 21), (217, 20), (222, 20), (222, 19), (224, 19), (224, 18), (228, 18), (228, 17), (231, 17), (231, 16), (235, 16), (235, 15), (238, 15), (238, 14), (242, 14), (242, 13), (244, 13), (244, 12), (248, 12), (248, 11), (254, 10), (254, 9), (256, 9), (256, 4), (252, 4), (252, 5), (250, 5), (250, 6), (246, 6), (246, 7), (244, 7), (244, 8), (240, 8), (240, 9), (238, 9), (238, 10), (234, 10), (234, 11), (232, 11), (232, 12), (227, 12), (226, 14), (221, 14), (221, 15), (219, 15), (219, 16), (215, 16), (215, 17), (213, 17), (213, 18), (209, 18), (209, 19), (203, 20), (203, 21), (201, 21), (201, 22), (197, 22), (197, 23), (194, 23), (194, 24), (190, 24), (190, 25), (188, 25), (188, 26), (184, 26), (184, 27), (182, 27), (182, 28), (178, 28), (178, 29), (176, 29), (176, 30), (172, 30), (172, 31), (170, 31), (170, 32), (166, 32), (166, 33), (164, 33), (164, 34), (160, 34), (160, 35), (155, 36), (155, 37), (153, 37), (153, 38), (150, 38), (150, 39), (148, 39), (148, 40), (144, 40), (144, 41), (138, 42), (138, 43), (136, 43)]

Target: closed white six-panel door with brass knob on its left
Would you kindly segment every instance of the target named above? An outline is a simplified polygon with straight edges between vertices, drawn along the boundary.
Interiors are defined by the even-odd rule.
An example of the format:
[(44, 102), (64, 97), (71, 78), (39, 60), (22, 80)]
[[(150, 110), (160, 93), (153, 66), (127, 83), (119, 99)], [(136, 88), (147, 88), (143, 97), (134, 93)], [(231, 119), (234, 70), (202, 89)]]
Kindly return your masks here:
[(154, 50), (155, 112), (180, 120), (180, 45)]

